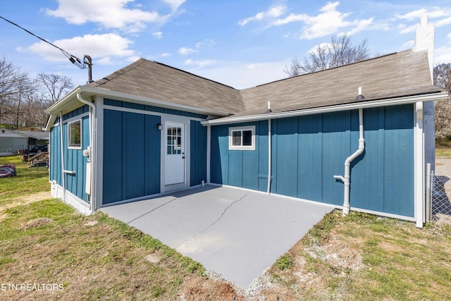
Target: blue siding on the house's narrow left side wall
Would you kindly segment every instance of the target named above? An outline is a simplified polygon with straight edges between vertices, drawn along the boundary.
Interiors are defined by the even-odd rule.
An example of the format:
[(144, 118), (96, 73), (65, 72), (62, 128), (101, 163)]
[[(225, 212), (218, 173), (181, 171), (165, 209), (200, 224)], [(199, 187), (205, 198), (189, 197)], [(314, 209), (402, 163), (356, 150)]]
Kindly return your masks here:
[[(86, 164), (87, 157), (83, 156), (83, 149), (89, 146), (89, 117), (87, 116), (87, 106), (71, 111), (63, 116), (63, 156), (64, 168), (66, 171), (75, 171), (75, 174), (63, 174), (61, 166), (61, 123), (59, 118), (56, 124), (50, 130), (50, 171), (49, 179), (55, 180), (58, 185), (63, 186), (63, 176), (65, 177), (65, 186), (68, 192), (77, 196), (79, 199), (88, 202), (85, 193), (86, 187)], [(81, 116), (84, 114), (83, 116)], [(78, 118), (80, 116), (80, 118)], [(81, 120), (82, 127), (82, 149), (68, 149), (68, 122)]]

